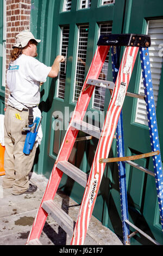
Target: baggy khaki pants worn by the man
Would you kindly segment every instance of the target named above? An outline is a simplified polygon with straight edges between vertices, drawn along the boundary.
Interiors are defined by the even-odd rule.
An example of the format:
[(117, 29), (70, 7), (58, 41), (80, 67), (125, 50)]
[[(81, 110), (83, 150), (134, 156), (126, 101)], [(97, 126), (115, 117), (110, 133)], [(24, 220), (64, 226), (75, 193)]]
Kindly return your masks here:
[[(22, 120), (16, 118), (19, 113)], [(14, 194), (21, 194), (29, 187), (28, 174), (32, 169), (36, 143), (29, 155), (23, 153), (26, 133), (22, 128), (28, 125), (28, 112), (18, 111), (10, 106), (4, 115), (4, 170), (3, 188), (12, 187)]]

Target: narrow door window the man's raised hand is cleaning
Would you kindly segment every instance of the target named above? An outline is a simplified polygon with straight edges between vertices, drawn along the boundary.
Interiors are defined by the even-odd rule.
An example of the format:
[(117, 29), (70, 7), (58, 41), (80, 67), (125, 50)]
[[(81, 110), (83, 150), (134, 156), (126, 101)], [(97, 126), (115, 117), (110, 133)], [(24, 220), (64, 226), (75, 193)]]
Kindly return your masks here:
[[(69, 31), (70, 31), (69, 26), (61, 27), (59, 54), (65, 56), (65, 59), (67, 59)], [(59, 97), (60, 99), (65, 98), (65, 83), (66, 83), (66, 61), (65, 63), (60, 63), (60, 72), (58, 75), (57, 97)]]

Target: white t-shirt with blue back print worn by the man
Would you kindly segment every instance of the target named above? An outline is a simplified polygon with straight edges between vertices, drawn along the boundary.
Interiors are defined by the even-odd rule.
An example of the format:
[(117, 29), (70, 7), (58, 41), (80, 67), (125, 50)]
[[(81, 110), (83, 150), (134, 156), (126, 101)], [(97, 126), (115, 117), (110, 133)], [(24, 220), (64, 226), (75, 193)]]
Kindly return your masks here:
[(14, 107), (20, 102), (27, 106), (39, 104), (40, 82), (46, 82), (51, 69), (50, 66), (24, 54), (11, 62), (7, 71), (7, 86), (12, 97), (9, 96), (8, 104)]

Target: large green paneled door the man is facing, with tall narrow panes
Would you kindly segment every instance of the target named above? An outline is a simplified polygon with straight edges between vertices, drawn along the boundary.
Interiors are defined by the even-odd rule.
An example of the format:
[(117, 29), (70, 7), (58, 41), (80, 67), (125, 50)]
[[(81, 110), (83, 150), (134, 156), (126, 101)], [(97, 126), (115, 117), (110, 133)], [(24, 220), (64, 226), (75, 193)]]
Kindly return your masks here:
[[(87, 6), (84, 2), (87, 2)], [(122, 32), (124, 3), (124, 0), (32, 1), (32, 32), (37, 38), (43, 40), (43, 46), (40, 44), (39, 48), (39, 59), (47, 65), (52, 65), (58, 54), (67, 56), (66, 66), (61, 65), (58, 80), (48, 79), (47, 83), (41, 87), (41, 95), (44, 94), (40, 103), (43, 115), (43, 141), (35, 170), (38, 173), (43, 173), (47, 178), (52, 171), (68, 121), (71, 118), (71, 112), (76, 105), (84, 78), (89, 70), (99, 34)], [(107, 58), (101, 74), (104, 79), (112, 77), (111, 59), (109, 56)], [(107, 75), (108, 65), (111, 72)], [(102, 93), (95, 92), (88, 109), (90, 116), (87, 119), (90, 122), (93, 119), (96, 125), (103, 124), (103, 111), (106, 111), (110, 101), (110, 93), (105, 93), (105, 99)], [(82, 132), (79, 133), (79, 136), (84, 135)], [(83, 172), (89, 172), (97, 143), (97, 139), (94, 138), (89, 142), (77, 142), (69, 161)], [(114, 151), (115, 142), (111, 150), (112, 156), (114, 156)], [(108, 166), (105, 170), (93, 211), (93, 215), (103, 222), (106, 212), (108, 212), (111, 168), (112, 166)], [(78, 203), (81, 202), (84, 189), (67, 178), (66, 175), (62, 178), (60, 187)], [(108, 226), (108, 223), (104, 224)]]

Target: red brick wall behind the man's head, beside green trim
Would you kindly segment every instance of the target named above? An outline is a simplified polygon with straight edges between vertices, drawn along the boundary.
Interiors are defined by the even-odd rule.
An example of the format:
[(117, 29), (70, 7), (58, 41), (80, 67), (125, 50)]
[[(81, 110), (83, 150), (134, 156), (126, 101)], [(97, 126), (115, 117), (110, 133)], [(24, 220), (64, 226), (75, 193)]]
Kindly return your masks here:
[[(30, 30), (30, 8), (31, 0), (7, 0), (7, 38), (6, 38), (6, 59), (7, 68), (9, 65), (10, 51), (15, 44), (15, 36), (23, 31)], [(5, 89), (5, 107), (9, 90)]]

